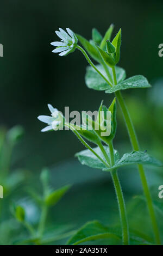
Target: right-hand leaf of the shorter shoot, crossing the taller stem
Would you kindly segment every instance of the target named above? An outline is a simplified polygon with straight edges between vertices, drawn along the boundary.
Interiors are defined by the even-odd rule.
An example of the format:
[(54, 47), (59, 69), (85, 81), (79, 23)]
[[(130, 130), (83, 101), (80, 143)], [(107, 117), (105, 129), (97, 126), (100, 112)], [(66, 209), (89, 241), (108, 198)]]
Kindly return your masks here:
[(114, 166), (110, 168), (104, 168), (103, 170), (110, 171), (112, 169), (127, 166), (129, 164), (149, 164), (158, 167), (162, 166), (162, 163), (155, 159), (153, 156), (149, 156), (145, 152), (133, 151), (131, 153), (124, 154), (122, 158), (114, 164)]

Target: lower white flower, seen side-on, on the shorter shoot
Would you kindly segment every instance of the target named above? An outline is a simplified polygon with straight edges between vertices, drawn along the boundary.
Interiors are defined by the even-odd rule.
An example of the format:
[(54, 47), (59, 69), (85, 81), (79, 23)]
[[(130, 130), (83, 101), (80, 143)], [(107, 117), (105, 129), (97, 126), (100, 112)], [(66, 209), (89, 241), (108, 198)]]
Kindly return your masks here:
[(49, 117), (49, 115), (39, 115), (39, 117), (37, 117), (43, 123), (48, 124), (48, 126), (43, 128), (41, 132), (52, 131), (52, 130), (57, 131), (64, 126), (65, 118), (62, 115), (62, 113), (59, 112), (57, 108), (53, 108), (51, 104), (48, 104), (48, 108), (49, 108), (49, 111), (51, 111), (52, 117)]

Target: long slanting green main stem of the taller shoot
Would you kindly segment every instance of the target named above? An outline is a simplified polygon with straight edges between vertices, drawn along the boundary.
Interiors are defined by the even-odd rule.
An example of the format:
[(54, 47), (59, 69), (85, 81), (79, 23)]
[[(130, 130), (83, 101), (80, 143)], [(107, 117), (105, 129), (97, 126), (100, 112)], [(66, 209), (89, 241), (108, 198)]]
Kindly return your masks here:
[[(115, 67), (112, 68), (112, 73), (113, 73), (113, 76), (114, 76), (114, 84), (116, 85), (117, 80), (116, 80)], [(133, 149), (135, 151), (139, 151), (140, 150), (139, 142), (137, 140), (134, 125), (133, 125), (133, 122), (130, 118), (130, 114), (128, 112), (128, 108), (126, 106), (126, 103), (123, 100), (123, 97), (122, 97), (122, 94), (121, 94), (120, 91), (115, 92), (115, 95), (116, 95), (116, 98), (118, 100), (118, 103), (120, 104), (121, 111), (123, 113), (123, 117), (124, 117), (124, 120), (126, 122), (128, 134), (129, 134), (129, 137), (130, 137), (130, 142), (133, 146)], [(145, 170), (144, 170), (142, 164), (138, 164), (138, 169), (139, 169), (139, 174), (140, 174), (140, 178), (141, 178), (141, 182), (142, 182), (142, 186), (143, 186), (143, 192), (144, 192), (146, 200), (147, 200), (149, 215), (150, 215), (151, 221), (152, 221), (155, 241), (158, 245), (160, 245), (161, 241), (160, 241), (159, 228), (158, 228), (158, 224), (156, 222), (156, 216), (155, 216), (154, 207), (153, 207), (153, 203), (152, 203), (152, 197), (151, 197), (151, 193), (150, 193), (149, 188), (148, 188), (147, 179), (146, 179), (146, 175), (145, 175)]]

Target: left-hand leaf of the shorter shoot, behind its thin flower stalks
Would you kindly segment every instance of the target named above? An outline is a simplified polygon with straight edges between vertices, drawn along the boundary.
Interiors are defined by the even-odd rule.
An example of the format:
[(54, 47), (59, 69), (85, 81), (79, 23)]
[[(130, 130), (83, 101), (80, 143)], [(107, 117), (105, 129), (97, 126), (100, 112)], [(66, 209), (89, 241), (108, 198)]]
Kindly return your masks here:
[[(104, 146), (104, 148), (106, 150), (106, 153), (110, 157), (109, 147)], [(105, 161), (105, 158), (99, 147), (93, 148), (93, 150)], [(114, 150), (114, 154), (115, 154), (115, 162), (117, 162), (119, 160), (119, 154), (117, 150)], [(98, 169), (106, 168), (105, 165), (98, 159), (98, 157), (95, 156), (89, 149), (80, 151), (79, 153), (76, 153), (75, 156), (78, 157), (78, 160), (80, 161), (80, 163), (85, 164), (86, 166), (89, 166), (92, 168), (98, 168)]]

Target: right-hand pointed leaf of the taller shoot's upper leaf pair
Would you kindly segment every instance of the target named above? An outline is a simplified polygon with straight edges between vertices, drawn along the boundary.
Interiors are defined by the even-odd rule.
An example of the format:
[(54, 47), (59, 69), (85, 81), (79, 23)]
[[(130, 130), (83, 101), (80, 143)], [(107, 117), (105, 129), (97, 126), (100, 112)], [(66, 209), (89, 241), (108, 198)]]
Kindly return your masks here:
[(126, 90), (130, 88), (148, 88), (151, 85), (148, 83), (147, 78), (141, 75), (132, 76), (114, 87), (110, 87), (105, 93), (114, 93), (117, 90)]

